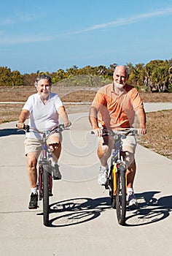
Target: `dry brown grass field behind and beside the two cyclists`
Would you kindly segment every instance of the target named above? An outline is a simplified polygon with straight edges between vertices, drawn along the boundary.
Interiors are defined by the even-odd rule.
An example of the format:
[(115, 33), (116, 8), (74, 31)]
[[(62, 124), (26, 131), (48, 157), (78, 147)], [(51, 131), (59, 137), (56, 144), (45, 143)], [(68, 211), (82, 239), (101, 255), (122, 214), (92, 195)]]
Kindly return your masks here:
[[(63, 102), (92, 102), (97, 89), (55, 87), (52, 91), (59, 94)], [(34, 87), (0, 87), (1, 102), (26, 102), (29, 95), (34, 94)], [(172, 102), (172, 94), (141, 93), (144, 102)], [(0, 124), (18, 119), (23, 103), (1, 104)], [(90, 105), (65, 105), (68, 113), (87, 112)], [(172, 159), (172, 110), (146, 113), (147, 134), (143, 136), (141, 145)]]

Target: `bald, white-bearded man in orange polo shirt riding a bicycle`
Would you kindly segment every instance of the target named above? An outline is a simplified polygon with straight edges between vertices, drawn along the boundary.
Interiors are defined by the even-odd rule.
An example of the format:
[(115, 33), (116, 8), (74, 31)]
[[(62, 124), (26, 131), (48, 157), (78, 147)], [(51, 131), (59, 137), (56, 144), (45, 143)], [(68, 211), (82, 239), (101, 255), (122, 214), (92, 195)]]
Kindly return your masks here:
[[(109, 166), (108, 159), (112, 154), (114, 139), (109, 135), (108, 143), (102, 137), (102, 127), (107, 129), (127, 129), (132, 127), (135, 116), (138, 118), (139, 133), (146, 134), (146, 115), (144, 105), (135, 87), (128, 85), (128, 69), (125, 66), (117, 66), (114, 70), (114, 83), (103, 86), (98, 90), (90, 108), (89, 119), (95, 135), (100, 138), (98, 143), (98, 158), (101, 161), (101, 169), (98, 176), (98, 184), (105, 185)], [(136, 162), (134, 153), (136, 139), (128, 136), (122, 141), (125, 151), (125, 161), (128, 164), (128, 204), (136, 206), (137, 200), (133, 192), (133, 181), (136, 174)]]

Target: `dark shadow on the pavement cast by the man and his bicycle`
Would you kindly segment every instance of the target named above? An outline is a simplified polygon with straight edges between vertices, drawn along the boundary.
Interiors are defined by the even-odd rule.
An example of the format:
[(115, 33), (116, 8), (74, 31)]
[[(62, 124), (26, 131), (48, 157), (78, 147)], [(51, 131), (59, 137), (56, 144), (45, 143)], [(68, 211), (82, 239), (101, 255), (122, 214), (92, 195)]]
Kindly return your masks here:
[[(172, 210), (172, 195), (156, 199), (155, 194), (159, 191), (143, 192), (136, 194), (138, 208), (130, 209), (130, 216), (126, 218), (127, 226), (141, 226), (159, 222), (167, 218)], [(139, 201), (143, 203), (139, 203)]]

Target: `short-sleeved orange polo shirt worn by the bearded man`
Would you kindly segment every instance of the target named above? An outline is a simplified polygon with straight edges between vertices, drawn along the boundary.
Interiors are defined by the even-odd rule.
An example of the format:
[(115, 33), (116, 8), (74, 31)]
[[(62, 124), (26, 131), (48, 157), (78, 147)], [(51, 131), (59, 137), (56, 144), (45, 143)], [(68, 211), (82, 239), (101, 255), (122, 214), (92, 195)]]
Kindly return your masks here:
[(113, 83), (98, 90), (92, 105), (98, 108), (98, 122), (109, 129), (132, 127), (136, 110), (144, 108), (135, 87), (126, 84), (119, 95)]

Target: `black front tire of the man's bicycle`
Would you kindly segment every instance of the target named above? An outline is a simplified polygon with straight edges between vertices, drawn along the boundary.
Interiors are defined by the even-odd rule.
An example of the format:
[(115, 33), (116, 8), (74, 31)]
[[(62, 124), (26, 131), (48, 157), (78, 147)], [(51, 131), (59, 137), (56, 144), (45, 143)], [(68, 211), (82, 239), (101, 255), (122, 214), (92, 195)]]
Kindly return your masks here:
[(125, 170), (117, 171), (117, 196), (116, 196), (117, 220), (120, 225), (125, 225), (126, 215), (126, 183)]

